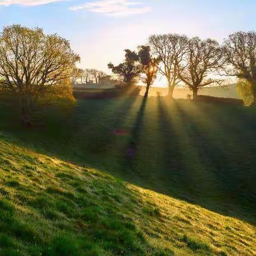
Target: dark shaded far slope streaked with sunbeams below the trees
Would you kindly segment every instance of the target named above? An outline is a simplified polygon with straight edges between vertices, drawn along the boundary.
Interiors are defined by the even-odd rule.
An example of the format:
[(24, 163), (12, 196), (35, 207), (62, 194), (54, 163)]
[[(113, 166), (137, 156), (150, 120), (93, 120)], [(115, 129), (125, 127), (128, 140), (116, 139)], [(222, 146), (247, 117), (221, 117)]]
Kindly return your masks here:
[(26, 130), (10, 106), (0, 103), (0, 129), (26, 147), (255, 225), (255, 107), (78, 100), (73, 113), (47, 109), (44, 125)]

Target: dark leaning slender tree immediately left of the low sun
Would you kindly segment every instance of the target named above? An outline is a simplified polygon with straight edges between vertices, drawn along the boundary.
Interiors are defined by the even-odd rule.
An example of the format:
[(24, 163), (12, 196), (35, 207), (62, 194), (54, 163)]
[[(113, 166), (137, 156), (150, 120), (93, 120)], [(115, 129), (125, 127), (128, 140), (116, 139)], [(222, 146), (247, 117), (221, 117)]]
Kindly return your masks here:
[(148, 92), (150, 86), (153, 85), (155, 79), (157, 78), (158, 64), (160, 62), (159, 58), (154, 58), (151, 54), (150, 46), (141, 45), (138, 47), (139, 63), (141, 70), (141, 80), (142, 83), (146, 84), (146, 92), (144, 97), (148, 97)]

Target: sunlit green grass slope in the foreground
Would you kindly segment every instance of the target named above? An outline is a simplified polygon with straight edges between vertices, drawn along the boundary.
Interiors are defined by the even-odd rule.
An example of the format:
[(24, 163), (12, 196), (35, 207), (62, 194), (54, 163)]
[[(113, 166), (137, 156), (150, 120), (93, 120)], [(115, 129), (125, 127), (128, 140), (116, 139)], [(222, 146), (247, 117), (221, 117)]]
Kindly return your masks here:
[(1, 255), (254, 255), (255, 226), (0, 137)]

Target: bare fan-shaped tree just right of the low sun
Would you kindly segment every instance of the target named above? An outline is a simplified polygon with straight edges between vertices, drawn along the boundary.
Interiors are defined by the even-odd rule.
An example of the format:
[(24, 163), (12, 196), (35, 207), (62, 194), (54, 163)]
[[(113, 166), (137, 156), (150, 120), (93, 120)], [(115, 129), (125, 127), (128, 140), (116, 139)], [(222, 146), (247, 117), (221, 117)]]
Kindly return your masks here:
[(184, 35), (165, 34), (149, 37), (151, 49), (162, 61), (159, 73), (164, 75), (169, 86), (168, 96), (173, 97), (175, 86), (179, 83), (178, 65), (187, 51), (188, 38)]

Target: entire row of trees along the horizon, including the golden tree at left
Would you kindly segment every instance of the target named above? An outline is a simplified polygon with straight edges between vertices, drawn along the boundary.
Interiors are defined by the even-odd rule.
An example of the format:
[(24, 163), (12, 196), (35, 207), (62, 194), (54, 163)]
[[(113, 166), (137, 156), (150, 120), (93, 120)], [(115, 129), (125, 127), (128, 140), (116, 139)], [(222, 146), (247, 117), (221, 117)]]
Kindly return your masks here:
[(233, 76), (246, 105), (256, 99), (256, 33), (239, 31), (219, 44), (213, 39), (166, 34), (152, 35), (147, 45), (136, 51), (125, 50), (125, 59), (115, 66), (113, 76), (97, 69), (79, 69), (80, 57), (69, 42), (57, 34), (45, 35), (40, 28), (20, 25), (3, 28), (0, 33), (0, 90), (20, 98), (22, 122), (30, 125), (32, 105), (74, 102), (73, 86), (81, 83), (115, 82), (125, 90), (138, 80), (145, 83), (148, 96), (157, 75), (164, 75), (172, 98), (175, 86), (184, 84), (194, 98), (201, 87), (222, 84)]

